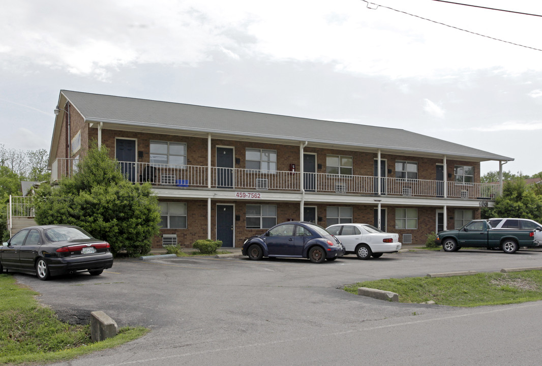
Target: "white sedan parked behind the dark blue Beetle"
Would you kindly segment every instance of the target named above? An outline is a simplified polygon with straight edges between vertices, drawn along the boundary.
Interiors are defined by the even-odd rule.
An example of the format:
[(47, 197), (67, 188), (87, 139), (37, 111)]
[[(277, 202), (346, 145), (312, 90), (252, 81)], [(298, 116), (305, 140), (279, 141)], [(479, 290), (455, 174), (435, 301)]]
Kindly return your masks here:
[(383, 253), (401, 249), (399, 234), (384, 233), (369, 224), (345, 223), (326, 228), (346, 248), (346, 254), (356, 254), (359, 259), (379, 258)]

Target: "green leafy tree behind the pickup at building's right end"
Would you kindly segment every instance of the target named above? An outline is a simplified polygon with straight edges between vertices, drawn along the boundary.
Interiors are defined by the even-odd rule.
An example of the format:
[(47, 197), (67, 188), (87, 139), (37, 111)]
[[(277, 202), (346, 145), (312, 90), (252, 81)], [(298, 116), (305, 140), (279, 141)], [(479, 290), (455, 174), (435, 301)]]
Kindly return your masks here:
[(542, 196), (525, 184), (524, 179), (506, 181), (502, 195), (495, 199), (495, 207), (482, 212), (482, 217), (521, 217), (542, 221)]

